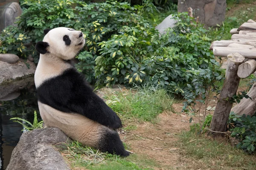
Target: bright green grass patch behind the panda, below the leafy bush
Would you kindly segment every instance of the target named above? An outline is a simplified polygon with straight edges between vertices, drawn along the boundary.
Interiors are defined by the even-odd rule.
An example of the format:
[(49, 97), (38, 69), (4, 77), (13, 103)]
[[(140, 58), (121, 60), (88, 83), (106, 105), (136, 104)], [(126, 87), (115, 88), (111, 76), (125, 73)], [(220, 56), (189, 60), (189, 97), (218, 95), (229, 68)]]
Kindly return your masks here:
[(136, 118), (142, 121), (152, 121), (164, 110), (170, 110), (174, 99), (166, 90), (148, 86), (116, 91), (106, 94), (105, 98), (108, 100), (106, 103), (122, 120)]

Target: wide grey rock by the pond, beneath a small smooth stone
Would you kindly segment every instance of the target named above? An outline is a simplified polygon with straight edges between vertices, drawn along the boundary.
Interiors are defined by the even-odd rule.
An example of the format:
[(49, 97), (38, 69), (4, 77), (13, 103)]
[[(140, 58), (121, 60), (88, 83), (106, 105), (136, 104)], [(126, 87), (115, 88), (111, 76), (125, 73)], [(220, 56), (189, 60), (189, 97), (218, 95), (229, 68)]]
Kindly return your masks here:
[[(26, 64), (29, 65), (29, 68)], [(20, 61), (15, 64), (0, 61), (0, 84), (35, 74), (35, 63), (27, 61), (26, 64)]]

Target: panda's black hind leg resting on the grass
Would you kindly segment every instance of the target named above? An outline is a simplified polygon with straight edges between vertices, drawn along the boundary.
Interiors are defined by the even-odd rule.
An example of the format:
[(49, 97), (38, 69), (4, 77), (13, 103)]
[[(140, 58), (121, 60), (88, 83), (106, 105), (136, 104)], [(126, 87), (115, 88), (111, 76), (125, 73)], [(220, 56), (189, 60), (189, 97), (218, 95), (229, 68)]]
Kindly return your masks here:
[(100, 142), (99, 142), (100, 150), (108, 153), (116, 153), (116, 155), (120, 156), (129, 156), (129, 152), (125, 150), (125, 147), (115, 130), (109, 130), (104, 133)]

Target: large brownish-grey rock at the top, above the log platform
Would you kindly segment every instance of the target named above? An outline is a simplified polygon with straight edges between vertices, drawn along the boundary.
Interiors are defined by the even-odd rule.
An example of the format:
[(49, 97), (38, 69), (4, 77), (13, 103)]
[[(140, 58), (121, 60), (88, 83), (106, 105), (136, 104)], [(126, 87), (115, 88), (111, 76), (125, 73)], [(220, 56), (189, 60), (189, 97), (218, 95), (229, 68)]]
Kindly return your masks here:
[(187, 12), (189, 7), (206, 27), (221, 25), (225, 20), (226, 0), (178, 0), (178, 12)]

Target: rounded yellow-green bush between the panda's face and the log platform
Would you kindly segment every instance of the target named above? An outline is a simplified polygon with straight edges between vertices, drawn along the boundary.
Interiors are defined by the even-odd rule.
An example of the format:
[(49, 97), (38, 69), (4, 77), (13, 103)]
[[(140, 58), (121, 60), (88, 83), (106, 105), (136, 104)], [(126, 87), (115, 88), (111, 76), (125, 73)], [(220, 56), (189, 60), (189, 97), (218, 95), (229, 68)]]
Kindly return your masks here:
[[(101, 56), (96, 58), (95, 68), (98, 84), (161, 85), (184, 94), (197, 70), (212, 68), (216, 62), (209, 51), (208, 31), (192, 26), (193, 19), (187, 13), (176, 17), (183, 20), (162, 36), (154, 28), (138, 24), (124, 26), (120, 34), (100, 42)], [(220, 72), (213, 76), (220, 76)]]

